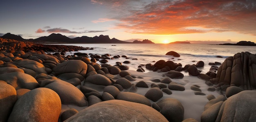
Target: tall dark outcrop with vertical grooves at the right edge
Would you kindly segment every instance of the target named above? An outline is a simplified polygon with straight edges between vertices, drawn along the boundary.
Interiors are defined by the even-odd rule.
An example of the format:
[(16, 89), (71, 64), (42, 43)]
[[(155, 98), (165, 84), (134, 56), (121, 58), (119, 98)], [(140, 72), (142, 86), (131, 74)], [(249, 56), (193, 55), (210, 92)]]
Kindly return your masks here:
[(256, 89), (256, 55), (241, 52), (220, 65), (214, 83), (235, 85), (244, 90)]

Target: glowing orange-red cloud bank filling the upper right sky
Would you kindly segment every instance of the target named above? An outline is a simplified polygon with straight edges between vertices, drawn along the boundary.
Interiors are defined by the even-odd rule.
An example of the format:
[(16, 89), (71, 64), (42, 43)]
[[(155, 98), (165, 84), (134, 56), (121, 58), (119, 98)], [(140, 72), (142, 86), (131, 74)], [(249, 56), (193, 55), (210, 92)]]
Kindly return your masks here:
[(113, 16), (109, 19), (119, 20), (115, 28), (129, 33), (169, 35), (235, 31), (256, 35), (255, 0), (119, 0), (115, 9), (113, 4), (117, 4), (117, 0), (93, 1), (112, 9)]

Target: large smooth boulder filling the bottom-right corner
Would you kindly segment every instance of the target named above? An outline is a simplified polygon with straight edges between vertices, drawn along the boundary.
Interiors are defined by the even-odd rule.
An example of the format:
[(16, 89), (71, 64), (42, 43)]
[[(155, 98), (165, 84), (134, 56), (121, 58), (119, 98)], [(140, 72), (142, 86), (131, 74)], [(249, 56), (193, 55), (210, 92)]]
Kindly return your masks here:
[(255, 101), (255, 90), (241, 91), (229, 97), (220, 108), (216, 122), (254, 122), (256, 120)]

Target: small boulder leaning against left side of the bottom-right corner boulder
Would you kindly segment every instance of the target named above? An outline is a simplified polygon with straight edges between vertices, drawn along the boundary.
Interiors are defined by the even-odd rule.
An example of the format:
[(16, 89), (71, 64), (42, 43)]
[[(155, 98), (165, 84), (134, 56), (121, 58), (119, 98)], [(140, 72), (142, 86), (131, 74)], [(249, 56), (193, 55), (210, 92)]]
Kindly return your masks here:
[(223, 101), (217, 102), (205, 110), (201, 115), (201, 122), (215, 122), (222, 104)]

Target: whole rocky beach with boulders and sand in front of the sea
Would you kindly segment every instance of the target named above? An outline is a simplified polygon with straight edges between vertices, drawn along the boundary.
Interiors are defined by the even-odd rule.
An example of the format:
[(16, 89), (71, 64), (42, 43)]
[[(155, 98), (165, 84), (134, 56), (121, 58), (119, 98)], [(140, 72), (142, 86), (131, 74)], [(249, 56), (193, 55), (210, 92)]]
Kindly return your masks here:
[(130, 70), (136, 59), (80, 50), (94, 48), (0, 38), (0, 122), (256, 121), (256, 54)]

